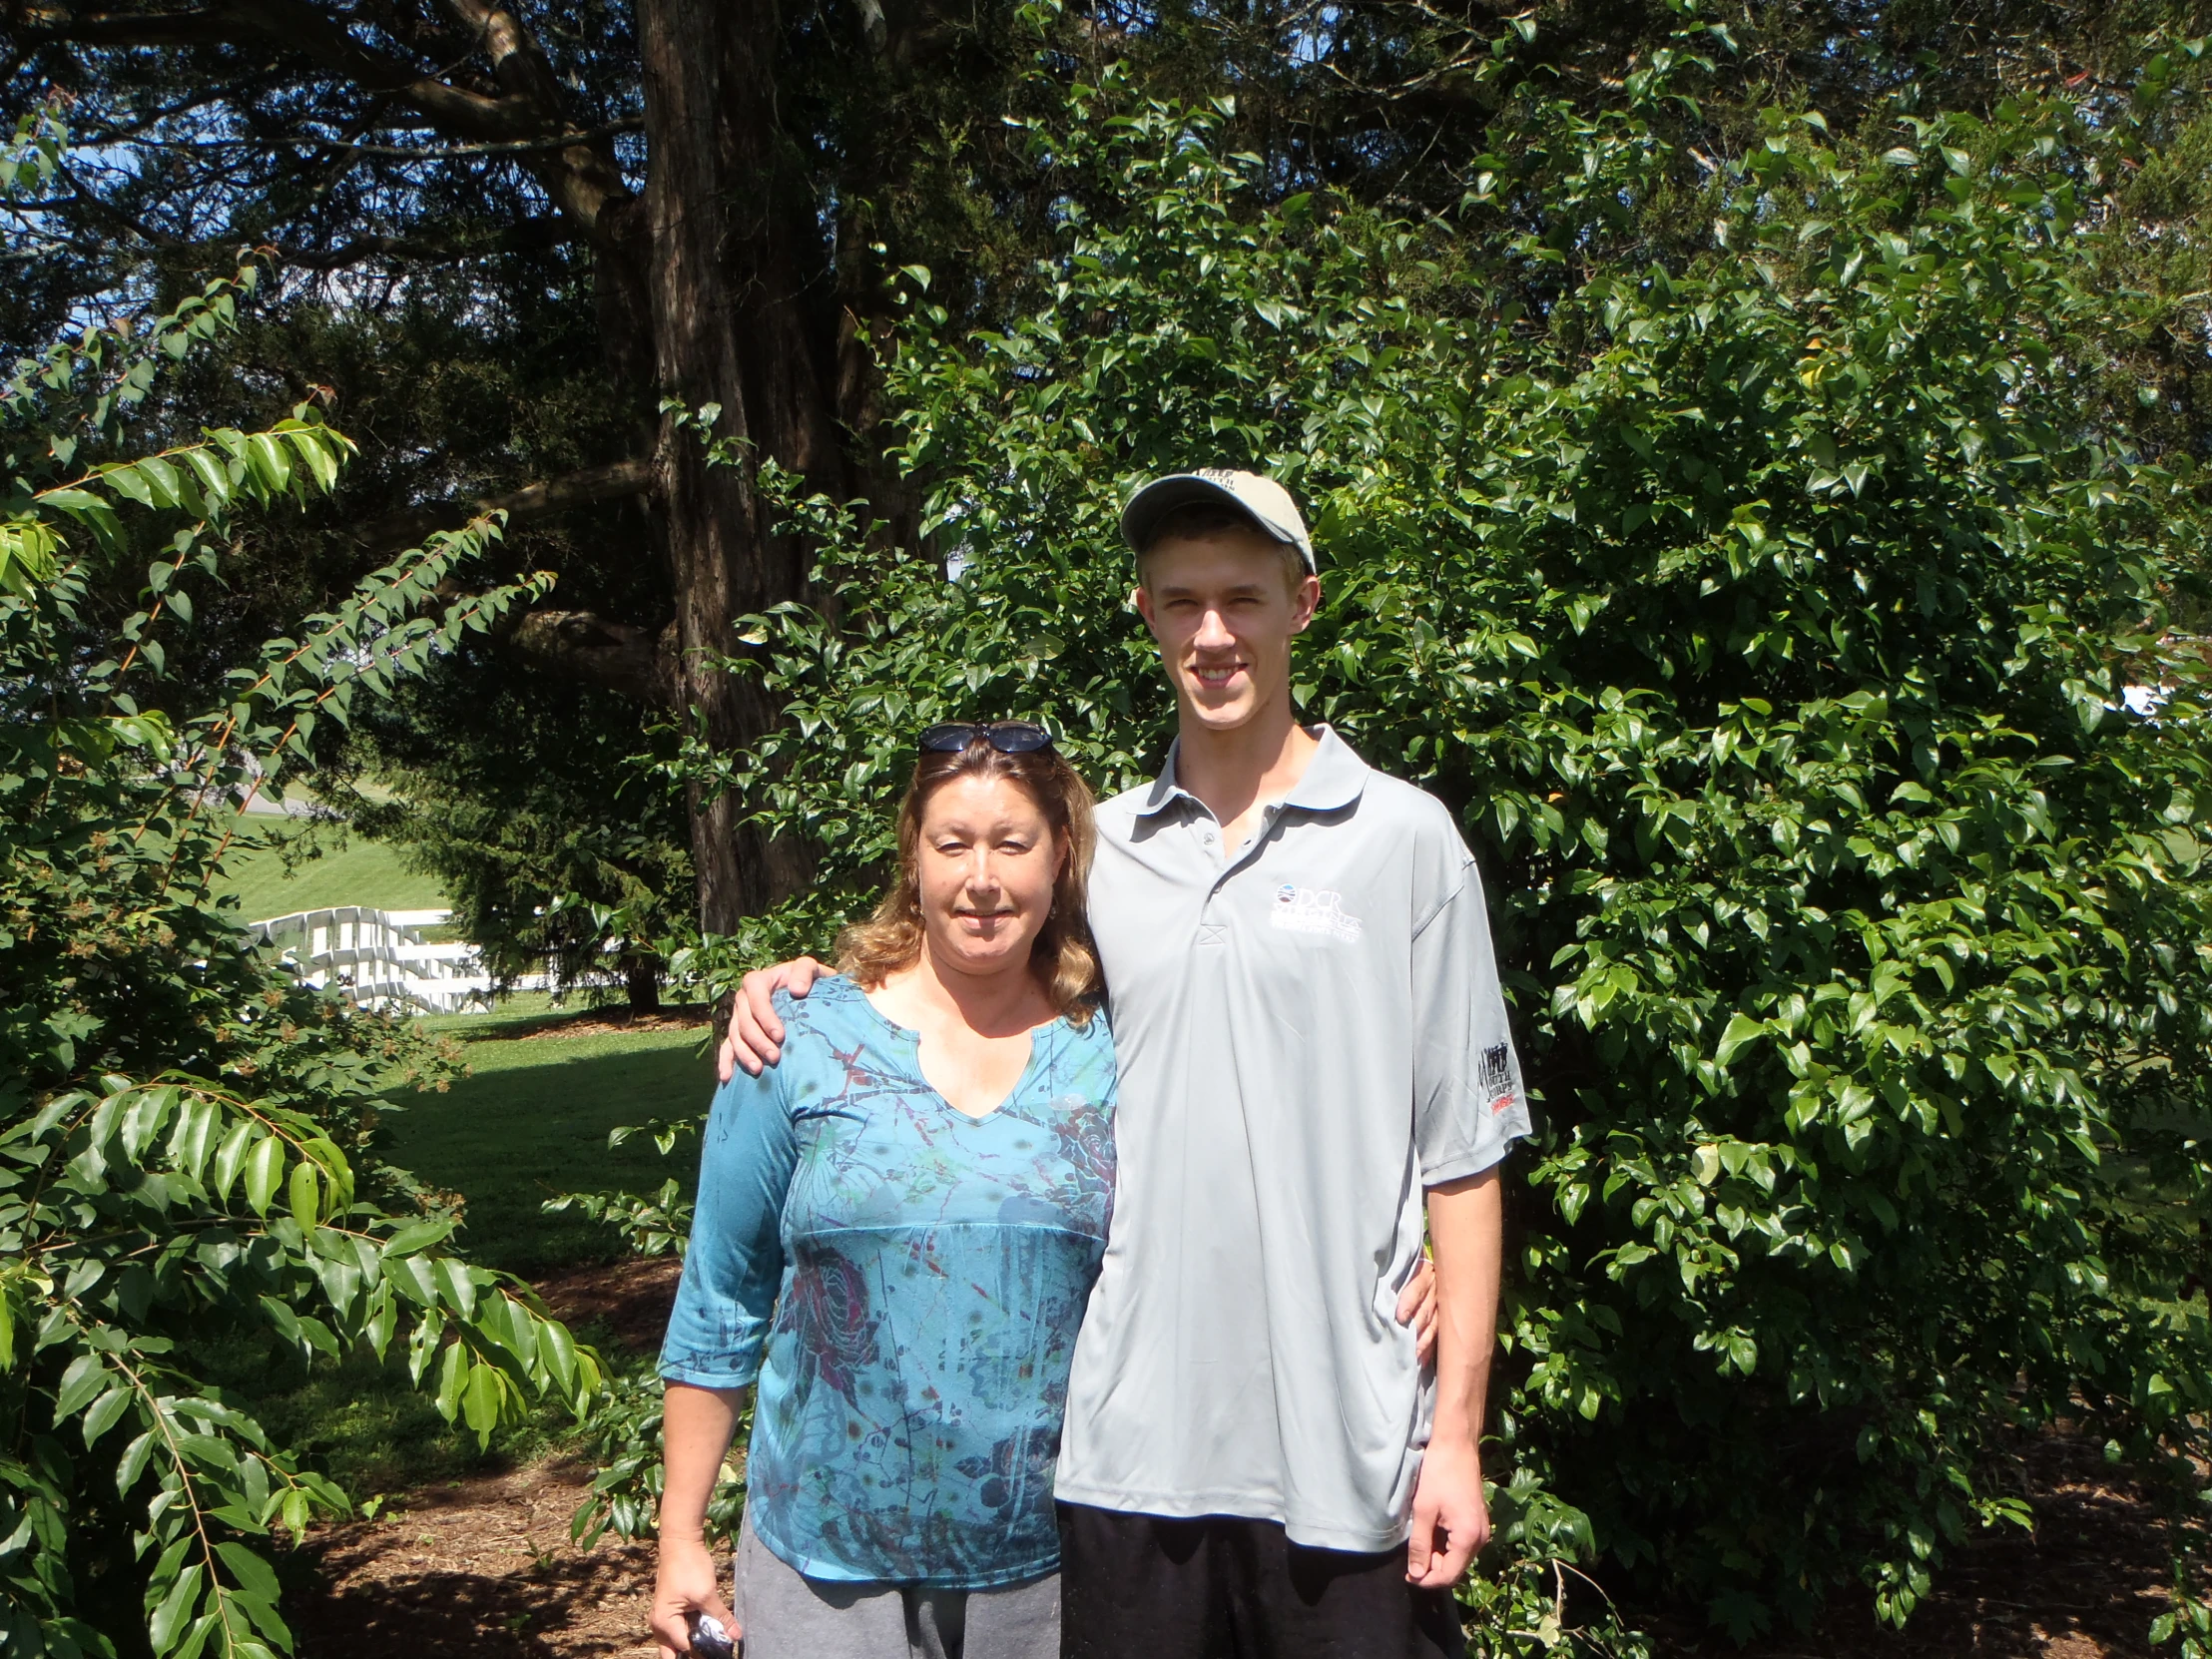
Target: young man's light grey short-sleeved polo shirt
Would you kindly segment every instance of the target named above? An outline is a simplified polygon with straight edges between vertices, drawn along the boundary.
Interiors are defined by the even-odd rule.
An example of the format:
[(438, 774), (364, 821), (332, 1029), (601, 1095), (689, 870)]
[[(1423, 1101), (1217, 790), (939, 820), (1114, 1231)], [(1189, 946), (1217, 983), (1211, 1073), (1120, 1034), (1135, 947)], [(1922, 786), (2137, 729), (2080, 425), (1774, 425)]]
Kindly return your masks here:
[(1422, 1188), (1491, 1168), (1528, 1110), (1451, 812), (1318, 734), (1239, 849), (1172, 750), (1099, 807), (1119, 1181), (1057, 1495), (1383, 1551), (1429, 1438), (1396, 1318)]

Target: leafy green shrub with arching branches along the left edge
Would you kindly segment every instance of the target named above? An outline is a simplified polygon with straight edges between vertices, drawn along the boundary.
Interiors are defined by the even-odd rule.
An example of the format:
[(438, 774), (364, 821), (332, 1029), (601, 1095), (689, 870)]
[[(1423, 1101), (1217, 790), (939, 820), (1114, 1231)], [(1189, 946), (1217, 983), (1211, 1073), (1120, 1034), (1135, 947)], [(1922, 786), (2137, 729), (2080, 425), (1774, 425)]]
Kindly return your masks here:
[[(27, 131), (0, 184), (40, 184), (60, 144)], [(204, 1383), (197, 1345), (398, 1352), (480, 1436), (597, 1391), (597, 1358), (453, 1254), (451, 1217), (369, 1150), (383, 1091), (445, 1062), (301, 987), (208, 896), (241, 794), (518, 595), (438, 599), (482, 522), (212, 701), (179, 686), (166, 648), (226, 546), (352, 451), (307, 407), (146, 451), (161, 365), (250, 288), (58, 343), (0, 389), (0, 1641), (20, 1655), (290, 1650), (268, 1540), (345, 1495)]]

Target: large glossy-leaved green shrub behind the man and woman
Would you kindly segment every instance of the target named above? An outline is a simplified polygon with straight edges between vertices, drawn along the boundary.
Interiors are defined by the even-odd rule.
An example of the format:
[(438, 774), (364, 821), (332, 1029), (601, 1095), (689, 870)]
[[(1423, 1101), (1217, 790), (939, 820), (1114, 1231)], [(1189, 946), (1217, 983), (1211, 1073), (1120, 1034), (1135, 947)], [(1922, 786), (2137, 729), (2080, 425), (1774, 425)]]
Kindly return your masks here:
[[(1542, 1104), (1469, 1590), (1500, 1650), (1564, 1639), (1575, 1557), (1739, 1635), (1849, 1582), (1902, 1624), (1947, 1546), (2024, 1520), (2006, 1429), (2079, 1418), (2183, 1480), (2212, 1407), (2212, 787), (2174, 626), (2205, 502), (2108, 396), (2159, 316), (2086, 210), (2126, 133), (2006, 104), (1860, 153), (1770, 111), (1719, 164), (1670, 137), (1694, 44), (1610, 111), (1524, 97), (1451, 223), (1254, 206), (1210, 113), (1079, 93), (1031, 131), (1108, 181), (1071, 188), (1048, 301), (947, 338), (907, 274), (891, 389), (953, 580), (787, 495), (836, 604), (754, 619), (732, 668), (792, 726), (688, 757), (823, 867), (688, 967), (818, 945), (920, 726), (1040, 717), (1106, 787), (1157, 765), (1128, 482), (1303, 495), (1296, 697), (1460, 810)], [(1710, 232), (1661, 261), (1659, 208)]]

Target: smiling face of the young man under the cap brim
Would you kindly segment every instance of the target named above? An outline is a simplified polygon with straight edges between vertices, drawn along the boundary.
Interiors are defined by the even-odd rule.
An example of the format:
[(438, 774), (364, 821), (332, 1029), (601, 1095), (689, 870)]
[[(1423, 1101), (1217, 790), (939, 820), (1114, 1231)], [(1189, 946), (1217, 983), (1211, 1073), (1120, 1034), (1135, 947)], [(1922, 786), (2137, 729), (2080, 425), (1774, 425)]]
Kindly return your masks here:
[(1234, 730), (1290, 703), (1290, 641), (1314, 619), (1321, 582), (1292, 582), (1276, 542), (1256, 529), (1161, 542), (1133, 597), (1183, 719)]

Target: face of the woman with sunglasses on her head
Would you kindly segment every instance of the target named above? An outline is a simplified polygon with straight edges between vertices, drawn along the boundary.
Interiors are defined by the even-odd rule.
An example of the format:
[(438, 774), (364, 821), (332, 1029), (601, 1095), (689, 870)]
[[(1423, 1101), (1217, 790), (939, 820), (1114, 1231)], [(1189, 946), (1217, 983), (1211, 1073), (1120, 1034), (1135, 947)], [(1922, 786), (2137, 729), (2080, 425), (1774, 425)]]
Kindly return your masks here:
[(1020, 785), (975, 776), (940, 785), (922, 807), (916, 847), (931, 960), (956, 973), (1026, 964), (1064, 863), (1066, 849)]

